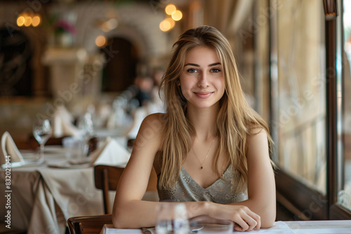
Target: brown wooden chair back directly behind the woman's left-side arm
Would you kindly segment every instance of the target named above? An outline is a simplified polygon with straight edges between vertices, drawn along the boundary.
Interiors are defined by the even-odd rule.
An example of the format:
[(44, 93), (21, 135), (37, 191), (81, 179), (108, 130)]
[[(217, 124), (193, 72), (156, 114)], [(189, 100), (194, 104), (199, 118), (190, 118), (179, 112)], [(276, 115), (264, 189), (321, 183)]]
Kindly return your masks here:
[[(109, 191), (116, 191), (123, 167), (96, 165), (94, 167), (95, 187), (102, 189), (105, 214), (111, 214)], [(150, 174), (147, 191), (157, 191), (157, 175), (154, 170)]]

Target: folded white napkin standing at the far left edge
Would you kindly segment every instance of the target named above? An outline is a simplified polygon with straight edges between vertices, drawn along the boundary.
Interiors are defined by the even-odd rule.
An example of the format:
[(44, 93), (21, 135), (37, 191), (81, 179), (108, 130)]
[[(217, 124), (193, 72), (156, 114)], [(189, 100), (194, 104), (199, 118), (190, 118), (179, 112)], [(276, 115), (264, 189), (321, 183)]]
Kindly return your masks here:
[(7, 156), (10, 156), (8, 158), (11, 159), (11, 161), (10, 161), (11, 163), (25, 161), (25, 160), (23, 160), (20, 151), (18, 151), (18, 148), (17, 148), (15, 142), (13, 142), (13, 139), (12, 139), (10, 133), (8, 133), (8, 132), (4, 132), (4, 134), (1, 137), (0, 154), (2, 154), (0, 156), (0, 164), (6, 163)]

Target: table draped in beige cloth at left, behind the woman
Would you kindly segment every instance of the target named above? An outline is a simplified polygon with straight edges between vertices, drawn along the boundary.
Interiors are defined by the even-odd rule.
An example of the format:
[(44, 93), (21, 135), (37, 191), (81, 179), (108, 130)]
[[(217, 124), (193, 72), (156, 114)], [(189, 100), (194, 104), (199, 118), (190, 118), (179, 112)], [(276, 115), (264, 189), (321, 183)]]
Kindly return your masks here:
[[(66, 160), (59, 148), (46, 152), (42, 165), (11, 168), (10, 189), (5, 187), (5, 170), (0, 170), (0, 220), (6, 219), (9, 210), (12, 229), (24, 229), (28, 234), (65, 233), (71, 216), (104, 214), (102, 191), (95, 188), (93, 167), (55, 168)], [(8, 208), (8, 200), (3, 199), (6, 194), (11, 198)], [(110, 196), (113, 202), (113, 191)]]

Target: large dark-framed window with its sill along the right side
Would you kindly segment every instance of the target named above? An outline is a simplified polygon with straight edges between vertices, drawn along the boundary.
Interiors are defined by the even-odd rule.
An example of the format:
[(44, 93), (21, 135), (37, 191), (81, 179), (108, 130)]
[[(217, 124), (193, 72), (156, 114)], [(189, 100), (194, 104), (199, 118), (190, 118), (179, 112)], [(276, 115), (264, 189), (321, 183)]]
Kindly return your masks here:
[[(324, 2), (338, 7), (337, 17), (326, 17)], [(350, 219), (350, 1), (270, 0), (270, 6), (277, 200), (296, 219)]]

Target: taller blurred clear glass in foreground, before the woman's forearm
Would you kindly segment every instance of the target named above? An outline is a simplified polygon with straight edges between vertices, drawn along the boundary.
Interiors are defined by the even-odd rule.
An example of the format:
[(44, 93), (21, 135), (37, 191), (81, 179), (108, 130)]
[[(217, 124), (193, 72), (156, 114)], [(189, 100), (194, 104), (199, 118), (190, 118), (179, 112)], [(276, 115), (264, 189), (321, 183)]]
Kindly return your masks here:
[(156, 217), (157, 234), (189, 234), (190, 226), (184, 204), (161, 202)]

